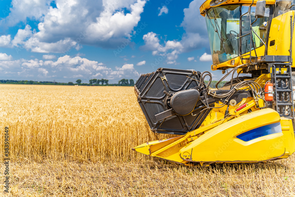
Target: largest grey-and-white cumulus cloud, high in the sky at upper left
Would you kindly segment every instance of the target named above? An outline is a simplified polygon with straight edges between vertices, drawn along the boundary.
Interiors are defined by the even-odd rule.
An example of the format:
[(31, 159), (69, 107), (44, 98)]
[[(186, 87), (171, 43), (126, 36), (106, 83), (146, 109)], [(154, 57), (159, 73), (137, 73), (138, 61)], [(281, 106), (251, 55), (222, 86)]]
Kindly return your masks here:
[[(37, 29), (26, 25), (14, 36), (12, 45), (38, 53), (64, 53), (81, 45), (115, 48), (131, 38), (146, 4), (144, 0), (51, 0), (12, 1), (2, 27), (14, 26), (27, 19), (38, 22)], [(0, 46), (10, 43), (0, 37)]]

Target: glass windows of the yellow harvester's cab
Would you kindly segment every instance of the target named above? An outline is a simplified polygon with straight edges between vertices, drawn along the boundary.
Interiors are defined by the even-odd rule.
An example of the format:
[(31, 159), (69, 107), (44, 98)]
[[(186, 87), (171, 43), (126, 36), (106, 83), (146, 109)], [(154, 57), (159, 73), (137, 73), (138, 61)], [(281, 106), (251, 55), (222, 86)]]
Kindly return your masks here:
[[(258, 18), (252, 25), (253, 31), (257, 34), (255, 35), (253, 32), (252, 48), (250, 47), (250, 19), (251, 22), (255, 21), (255, 5), (251, 7), (250, 19), (247, 13), (249, 6), (250, 4), (232, 4), (213, 7), (207, 10), (206, 24), (213, 64), (220, 64), (239, 56), (239, 54), (248, 53), (250, 50), (254, 49), (254, 46), (255, 48), (262, 46), (263, 43), (257, 35), (265, 42), (269, 6), (266, 6), (264, 17)], [(242, 20), (240, 21), (240, 16), (242, 14), (245, 15), (242, 16)], [(240, 22), (242, 22), (241, 25)], [(239, 37), (240, 32), (241, 38)], [(241, 46), (239, 46), (239, 38), (241, 39)]]

